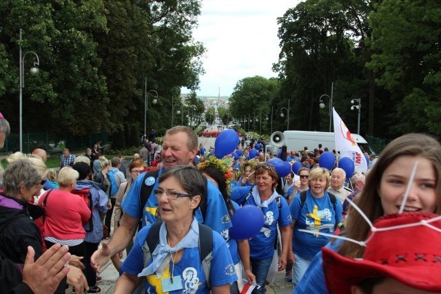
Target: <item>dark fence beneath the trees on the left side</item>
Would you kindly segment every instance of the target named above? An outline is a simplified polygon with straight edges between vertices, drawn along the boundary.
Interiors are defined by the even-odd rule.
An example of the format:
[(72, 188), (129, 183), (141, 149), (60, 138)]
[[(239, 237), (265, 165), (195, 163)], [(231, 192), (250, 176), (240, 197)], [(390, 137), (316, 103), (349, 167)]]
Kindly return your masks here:
[[(31, 153), (36, 148), (45, 149), (48, 154), (59, 153), (63, 148), (70, 151), (85, 150), (91, 148), (96, 141), (101, 140), (101, 145), (109, 143), (109, 134), (102, 131), (98, 134), (74, 136), (74, 135), (57, 135), (43, 133), (27, 133), (23, 134), (23, 153)], [(1, 154), (10, 154), (20, 150), (20, 135), (10, 134), (7, 136)]]

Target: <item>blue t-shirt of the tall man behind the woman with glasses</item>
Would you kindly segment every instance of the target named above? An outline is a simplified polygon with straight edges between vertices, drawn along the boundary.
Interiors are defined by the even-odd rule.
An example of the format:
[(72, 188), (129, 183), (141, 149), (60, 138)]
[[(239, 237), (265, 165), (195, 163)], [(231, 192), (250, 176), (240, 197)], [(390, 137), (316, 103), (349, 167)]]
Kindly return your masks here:
[[(164, 168), (159, 171), (158, 176), (161, 176), (163, 171)], [(141, 214), (141, 187), (142, 185), (145, 185), (145, 182), (152, 182), (153, 180), (154, 184), (152, 193), (147, 199), (147, 203), (145, 204), (145, 207), (143, 207), (143, 212)], [(158, 179), (149, 177), (145, 180), (145, 182), (144, 175), (139, 175), (139, 177), (136, 178), (132, 184), (132, 187), (130, 187), (123, 204), (121, 204), (121, 207), (123, 207), (125, 213), (128, 213), (133, 218), (142, 218), (143, 227), (145, 227), (147, 224), (156, 222), (156, 211), (158, 210), (158, 198), (156, 198), (156, 196), (153, 194), (154, 189), (158, 189)], [(218, 187), (208, 180), (207, 189), (208, 200), (207, 211), (205, 211), (206, 220), (205, 222), (203, 221), (201, 209), (196, 211), (196, 220), (198, 220), (199, 223), (205, 224), (214, 231), (220, 233), (221, 231), (232, 227), (232, 222), (229, 219), (227, 206), (225, 205), (223, 196)]]

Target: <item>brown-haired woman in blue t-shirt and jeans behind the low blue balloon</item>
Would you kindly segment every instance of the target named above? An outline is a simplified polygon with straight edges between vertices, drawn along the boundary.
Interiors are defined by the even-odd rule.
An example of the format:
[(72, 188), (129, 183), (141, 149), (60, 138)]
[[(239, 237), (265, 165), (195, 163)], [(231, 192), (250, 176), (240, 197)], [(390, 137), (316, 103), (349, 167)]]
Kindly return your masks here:
[(285, 269), (289, 239), (291, 238), (291, 215), (288, 203), (283, 196), (276, 192), (278, 176), (273, 165), (260, 164), (254, 171), (256, 186), (238, 187), (232, 191), (232, 200), (244, 205), (254, 205), (262, 209), (265, 223), (260, 232), (249, 240), (249, 256), (251, 270), (256, 275), (256, 282), (260, 286), (254, 293), (265, 292), (265, 280), (269, 266), (273, 260), (274, 243), (276, 241), (277, 226), (282, 238), (282, 255), (278, 263), (278, 271)]

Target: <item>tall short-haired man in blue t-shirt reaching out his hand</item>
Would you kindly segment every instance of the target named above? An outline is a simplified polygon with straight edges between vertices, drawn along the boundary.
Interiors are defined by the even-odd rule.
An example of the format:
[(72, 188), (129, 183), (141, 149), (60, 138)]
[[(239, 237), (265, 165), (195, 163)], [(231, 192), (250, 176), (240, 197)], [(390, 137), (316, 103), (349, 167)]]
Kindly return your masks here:
[[(189, 165), (194, 156), (196, 156), (197, 151), (198, 136), (194, 130), (183, 126), (168, 129), (164, 136), (163, 149), (161, 151), (163, 168), (160, 169), (158, 176), (161, 176), (167, 167)], [(103, 242), (103, 246), (92, 255), (91, 264), (96, 271), (99, 271), (100, 266), (106, 264), (113, 255), (125, 249), (130, 238), (133, 238), (140, 219), (142, 219), (143, 227), (156, 222), (158, 200), (155, 196), (150, 195), (147, 198), (147, 203), (144, 207), (141, 207), (140, 193), (143, 185), (153, 185), (153, 193), (154, 189), (158, 187), (158, 180), (153, 177), (144, 180), (144, 176), (140, 175), (133, 182), (122, 204), (125, 212), (123, 224), (114, 232), (109, 244)], [(232, 227), (227, 206), (222, 194), (210, 181), (208, 181), (207, 191), (206, 219), (202, 219), (200, 209), (196, 211), (196, 219), (198, 222), (203, 222), (203, 224), (220, 233)]]

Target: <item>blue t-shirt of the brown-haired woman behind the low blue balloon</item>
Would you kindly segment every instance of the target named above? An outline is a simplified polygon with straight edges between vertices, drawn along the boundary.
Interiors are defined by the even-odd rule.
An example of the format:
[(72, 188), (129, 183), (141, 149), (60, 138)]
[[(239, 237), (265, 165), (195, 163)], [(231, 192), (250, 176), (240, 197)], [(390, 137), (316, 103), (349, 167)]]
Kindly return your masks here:
[[(231, 193), (231, 198), (233, 201), (242, 203), (249, 193), (249, 187), (239, 187), (236, 188)], [(265, 222), (263, 228), (260, 232), (251, 238), (249, 242), (249, 256), (258, 260), (263, 260), (265, 258), (271, 258), (274, 255), (274, 241), (277, 235), (277, 223), (280, 227), (289, 226), (292, 224), (291, 215), (289, 214), (288, 202), (280, 196), (280, 203), (282, 207), (279, 209), (277, 207), (277, 200), (275, 199), (271, 202), (268, 207), (262, 207), (263, 218)], [(249, 196), (245, 205), (257, 206), (256, 201), (254, 201), (253, 196)]]

